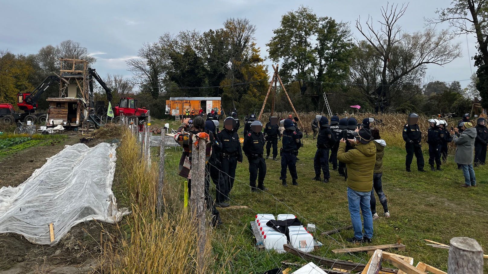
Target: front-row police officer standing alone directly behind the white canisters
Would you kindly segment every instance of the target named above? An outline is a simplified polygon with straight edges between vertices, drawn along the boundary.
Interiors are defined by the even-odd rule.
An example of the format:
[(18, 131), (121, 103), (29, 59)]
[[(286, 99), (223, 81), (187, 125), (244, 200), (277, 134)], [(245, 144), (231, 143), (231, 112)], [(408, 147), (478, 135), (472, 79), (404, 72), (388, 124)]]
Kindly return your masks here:
[(297, 154), (298, 149), (302, 147), (302, 133), (295, 131), (295, 126), (291, 119), (285, 119), (283, 126), (285, 131), (283, 132), (282, 138), (282, 154), (281, 154), (281, 176), (283, 186), (288, 186), (286, 184), (286, 167), (290, 170), (291, 178), (293, 179), (293, 185), (298, 185), (297, 179)]

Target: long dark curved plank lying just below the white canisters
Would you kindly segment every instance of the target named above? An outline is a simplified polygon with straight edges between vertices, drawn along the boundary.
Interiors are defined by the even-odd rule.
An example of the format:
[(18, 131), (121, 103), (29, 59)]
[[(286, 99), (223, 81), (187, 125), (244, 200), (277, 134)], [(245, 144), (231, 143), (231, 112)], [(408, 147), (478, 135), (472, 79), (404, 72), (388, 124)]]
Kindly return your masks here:
[[(360, 264), (360, 263), (354, 263), (354, 262), (348, 262), (344, 260), (339, 260), (339, 259), (329, 259), (317, 255), (312, 255), (306, 252), (303, 252), (301, 250), (298, 250), (291, 245), (285, 244), (283, 245), (283, 248), (285, 249), (286, 252), (289, 252), (290, 254), (294, 254), (296, 256), (299, 256), (300, 258), (306, 259), (306, 260), (311, 260), (314, 261), (317, 264), (321, 265), (326, 265), (328, 267), (339, 267), (341, 269), (346, 269), (346, 270), (354, 270), (354, 271), (363, 271), (366, 267), (365, 264)], [(391, 272), (391, 273), (398, 273), (398, 270), (395, 269), (389, 269), (389, 268), (382, 268), (382, 270)]]

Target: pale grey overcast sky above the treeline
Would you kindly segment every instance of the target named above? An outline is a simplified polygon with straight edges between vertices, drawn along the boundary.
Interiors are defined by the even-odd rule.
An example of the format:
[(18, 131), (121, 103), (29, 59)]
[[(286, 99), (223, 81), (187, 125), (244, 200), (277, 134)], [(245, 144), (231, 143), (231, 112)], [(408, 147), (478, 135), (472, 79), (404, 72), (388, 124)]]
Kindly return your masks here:
[[(407, 32), (424, 28), (424, 17), (435, 17), (437, 8), (446, 7), (447, 0), (411, 0), (399, 21)], [(380, 0), (0, 0), (0, 49), (13, 53), (32, 54), (45, 45), (56, 45), (72, 39), (81, 43), (97, 57), (94, 67), (103, 77), (121, 74), (130, 77), (125, 60), (137, 55), (143, 42), (157, 41), (165, 32), (196, 29), (201, 32), (218, 29), (229, 17), (244, 17), (256, 25), (256, 40), (262, 55), (265, 44), (280, 24), (282, 15), (308, 6), (318, 16), (332, 17), (351, 23), (355, 37), (355, 20), (368, 15), (380, 20)], [(399, 2), (400, 4), (403, 2)], [(439, 26), (438, 26), (439, 27)], [(445, 65), (429, 65), (428, 80), (466, 80), (471, 75), (476, 53), (475, 39), (460, 37), (461, 58)], [(470, 55), (468, 54), (468, 50)], [(471, 66), (470, 66), (471, 62)], [(268, 62), (269, 64), (271, 62)], [(469, 81), (460, 81), (465, 87)]]

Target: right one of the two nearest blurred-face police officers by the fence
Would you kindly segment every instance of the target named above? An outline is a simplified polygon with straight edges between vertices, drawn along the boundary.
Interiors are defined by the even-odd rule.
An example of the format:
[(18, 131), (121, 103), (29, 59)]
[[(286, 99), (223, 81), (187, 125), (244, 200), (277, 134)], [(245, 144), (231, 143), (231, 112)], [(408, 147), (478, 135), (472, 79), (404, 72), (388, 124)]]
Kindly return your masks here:
[[(258, 189), (267, 190), (264, 187), (264, 176), (266, 176), (266, 162), (263, 158), (264, 134), (261, 132), (263, 124), (255, 120), (251, 123), (251, 131), (244, 138), (243, 150), (249, 161), (249, 185), (251, 191)], [(258, 176), (259, 174), (259, 176)], [(258, 188), (256, 188), (256, 178), (258, 178)]]

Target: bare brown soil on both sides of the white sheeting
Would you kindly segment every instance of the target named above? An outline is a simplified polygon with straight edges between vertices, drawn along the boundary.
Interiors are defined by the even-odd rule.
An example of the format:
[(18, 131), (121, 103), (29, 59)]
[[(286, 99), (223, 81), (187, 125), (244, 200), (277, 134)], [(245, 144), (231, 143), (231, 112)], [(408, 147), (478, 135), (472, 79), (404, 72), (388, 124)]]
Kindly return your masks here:
[[(78, 134), (70, 134), (58, 144), (32, 147), (0, 158), (0, 188), (19, 185), (46, 162), (46, 157), (78, 142)], [(90, 147), (100, 142), (85, 141)], [(0, 274), (89, 273), (98, 265), (101, 234), (106, 241), (107, 232), (115, 232), (115, 227), (94, 221), (81, 223), (53, 247), (32, 244), (17, 234), (0, 234)]]

